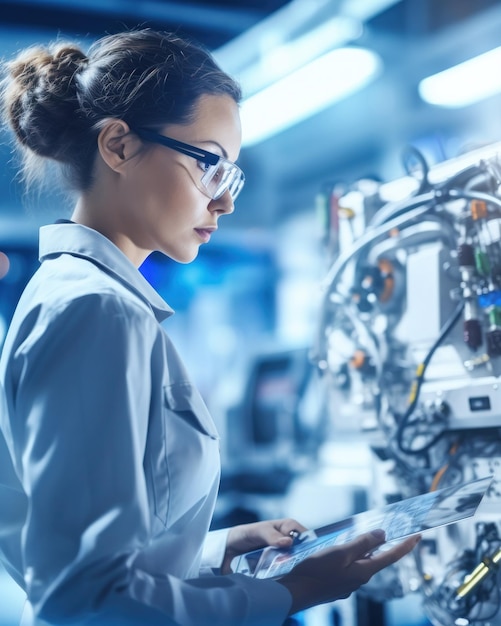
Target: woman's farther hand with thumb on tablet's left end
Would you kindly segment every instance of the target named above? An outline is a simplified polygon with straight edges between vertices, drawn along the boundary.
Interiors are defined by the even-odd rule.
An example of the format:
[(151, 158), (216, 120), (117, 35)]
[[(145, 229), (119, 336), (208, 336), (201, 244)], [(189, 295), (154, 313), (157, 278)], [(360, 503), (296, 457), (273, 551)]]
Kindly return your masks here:
[(290, 533), (293, 530), (301, 533), (306, 528), (290, 518), (233, 526), (228, 533), (221, 572), (223, 574), (231, 574), (231, 561), (239, 554), (245, 554), (245, 552), (264, 548), (265, 546), (290, 548), (293, 542)]

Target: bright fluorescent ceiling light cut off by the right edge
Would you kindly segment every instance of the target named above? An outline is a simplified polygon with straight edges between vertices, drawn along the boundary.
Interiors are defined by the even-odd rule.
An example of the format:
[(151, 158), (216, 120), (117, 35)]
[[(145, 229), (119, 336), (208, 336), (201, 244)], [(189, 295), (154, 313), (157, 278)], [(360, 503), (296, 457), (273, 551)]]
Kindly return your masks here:
[(426, 102), (459, 108), (501, 92), (501, 47), (428, 76), (419, 83)]

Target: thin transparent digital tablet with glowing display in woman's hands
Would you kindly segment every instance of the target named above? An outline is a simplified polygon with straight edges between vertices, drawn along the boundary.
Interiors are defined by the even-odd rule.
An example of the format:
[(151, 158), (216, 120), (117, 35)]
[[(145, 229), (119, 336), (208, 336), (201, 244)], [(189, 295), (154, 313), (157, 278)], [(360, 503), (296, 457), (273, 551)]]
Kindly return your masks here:
[(268, 546), (235, 557), (231, 562), (232, 570), (234, 573), (255, 578), (278, 578), (312, 554), (346, 543), (377, 528), (385, 531), (388, 544), (438, 526), (458, 522), (475, 514), (492, 478), (487, 476), (406, 498), (315, 530), (305, 531), (290, 548)]

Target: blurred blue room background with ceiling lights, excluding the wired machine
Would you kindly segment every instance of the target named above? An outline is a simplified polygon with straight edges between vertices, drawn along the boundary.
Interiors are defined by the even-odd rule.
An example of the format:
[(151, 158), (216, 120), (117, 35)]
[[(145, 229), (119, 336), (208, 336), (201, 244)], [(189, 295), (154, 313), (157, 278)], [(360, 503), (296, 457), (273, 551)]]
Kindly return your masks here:
[[(221, 431), (215, 525), (287, 514), (319, 526), (363, 510), (367, 442), (349, 420), (334, 428), (309, 359), (332, 261), (323, 198), (404, 177), (409, 146), (433, 168), (501, 139), (501, 2), (1, 0), (0, 56), (139, 25), (202, 42), (244, 92), (235, 213), (193, 264), (153, 255), (141, 268), (176, 310), (166, 329)], [(454, 66), (466, 73), (434, 78)], [(51, 181), (26, 193), (6, 133), (0, 164), (1, 345), (38, 227), (71, 200)], [(12, 626), (23, 596), (0, 576), (0, 626)], [(412, 594), (307, 613), (297, 623), (429, 623)]]

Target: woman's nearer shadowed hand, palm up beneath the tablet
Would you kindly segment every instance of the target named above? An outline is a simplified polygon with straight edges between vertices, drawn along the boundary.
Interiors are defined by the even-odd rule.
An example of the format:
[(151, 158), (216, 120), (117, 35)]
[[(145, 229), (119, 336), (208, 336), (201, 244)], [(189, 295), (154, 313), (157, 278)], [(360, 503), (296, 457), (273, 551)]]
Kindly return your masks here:
[(384, 532), (373, 531), (305, 559), (278, 579), (292, 594), (290, 614), (347, 598), (376, 572), (408, 554), (419, 539), (419, 536), (410, 537), (373, 555), (373, 550), (384, 543)]

